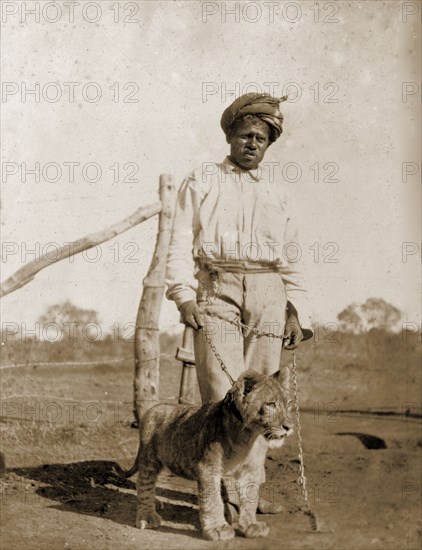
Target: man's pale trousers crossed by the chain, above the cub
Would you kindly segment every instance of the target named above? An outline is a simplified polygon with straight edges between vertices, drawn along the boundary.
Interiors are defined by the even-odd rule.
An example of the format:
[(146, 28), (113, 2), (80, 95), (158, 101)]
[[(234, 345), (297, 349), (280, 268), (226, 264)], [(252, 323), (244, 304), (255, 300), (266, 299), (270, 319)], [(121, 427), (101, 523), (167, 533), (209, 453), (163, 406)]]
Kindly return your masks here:
[(204, 330), (234, 380), (247, 369), (273, 374), (280, 366), (282, 340), (257, 336), (229, 321), (283, 334), (286, 292), (279, 273), (222, 272), (214, 294), (210, 292), (212, 281), (207, 271), (200, 271), (197, 279), (197, 302), (206, 312), (206, 325), (195, 331), (196, 372), (202, 401), (219, 401), (231, 384), (205, 339)]

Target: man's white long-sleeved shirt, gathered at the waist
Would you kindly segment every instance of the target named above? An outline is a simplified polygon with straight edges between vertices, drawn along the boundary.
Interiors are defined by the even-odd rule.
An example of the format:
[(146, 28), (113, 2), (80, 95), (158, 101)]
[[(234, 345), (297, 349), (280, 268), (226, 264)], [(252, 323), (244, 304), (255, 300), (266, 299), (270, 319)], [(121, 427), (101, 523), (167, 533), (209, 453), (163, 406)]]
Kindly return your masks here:
[(203, 163), (178, 194), (167, 259), (167, 298), (196, 299), (197, 260), (277, 266), (301, 326), (311, 326), (292, 199), (271, 165), (241, 170), (228, 157)]

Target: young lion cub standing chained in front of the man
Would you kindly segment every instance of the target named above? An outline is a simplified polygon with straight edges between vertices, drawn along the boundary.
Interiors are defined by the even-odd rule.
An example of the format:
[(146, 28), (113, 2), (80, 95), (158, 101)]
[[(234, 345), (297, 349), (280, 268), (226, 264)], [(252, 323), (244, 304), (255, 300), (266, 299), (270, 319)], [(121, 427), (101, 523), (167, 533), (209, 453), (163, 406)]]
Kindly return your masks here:
[(281, 447), (292, 432), (287, 394), (278, 373), (264, 376), (248, 370), (218, 403), (202, 407), (156, 405), (140, 423), (140, 444), (135, 464), (139, 470), (136, 526), (159, 527), (155, 509), (155, 483), (167, 467), (174, 474), (198, 482), (202, 532), (209, 540), (235, 536), (224, 518), (220, 486), (222, 476), (233, 476), (239, 498), (238, 527), (245, 537), (265, 537), (269, 528), (256, 521), (257, 501), (247, 498), (248, 484), (259, 487), (266, 452)]

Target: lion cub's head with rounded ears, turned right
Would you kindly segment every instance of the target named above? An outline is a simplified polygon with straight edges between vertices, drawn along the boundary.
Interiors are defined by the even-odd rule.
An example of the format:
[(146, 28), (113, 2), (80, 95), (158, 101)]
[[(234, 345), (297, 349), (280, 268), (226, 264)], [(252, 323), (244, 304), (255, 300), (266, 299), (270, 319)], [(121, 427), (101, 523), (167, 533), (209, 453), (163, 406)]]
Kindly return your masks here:
[(247, 370), (227, 392), (224, 402), (245, 428), (260, 432), (270, 447), (280, 447), (284, 437), (293, 432), (286, 385), (279, 372), (265, 376)]

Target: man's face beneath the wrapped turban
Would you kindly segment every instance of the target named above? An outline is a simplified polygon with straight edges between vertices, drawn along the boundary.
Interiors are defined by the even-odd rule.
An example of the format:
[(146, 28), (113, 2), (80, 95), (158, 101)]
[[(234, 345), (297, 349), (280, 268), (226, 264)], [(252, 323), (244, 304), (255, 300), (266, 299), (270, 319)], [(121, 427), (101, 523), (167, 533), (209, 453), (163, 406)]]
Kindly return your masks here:
[(270, 140), (265, 122), (244, 120), (230, 139), (230, 159), (243, 170), (253, 170), (264, 158)]

